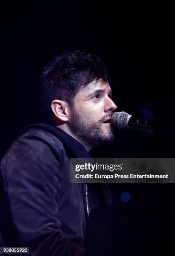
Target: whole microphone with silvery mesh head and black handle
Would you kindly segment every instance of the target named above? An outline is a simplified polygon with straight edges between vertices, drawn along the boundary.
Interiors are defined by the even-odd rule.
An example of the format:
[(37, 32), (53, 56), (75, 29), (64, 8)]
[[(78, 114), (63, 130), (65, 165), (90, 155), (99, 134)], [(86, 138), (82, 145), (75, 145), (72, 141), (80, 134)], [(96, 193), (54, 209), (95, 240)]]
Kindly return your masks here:
[(147, 131), (154, 130), (153, 121), (144, 120), (143, 118), (136, 118), (124, 111), (113, 113), (111, 123), (119, 129), (135, 128), (144, 129)]

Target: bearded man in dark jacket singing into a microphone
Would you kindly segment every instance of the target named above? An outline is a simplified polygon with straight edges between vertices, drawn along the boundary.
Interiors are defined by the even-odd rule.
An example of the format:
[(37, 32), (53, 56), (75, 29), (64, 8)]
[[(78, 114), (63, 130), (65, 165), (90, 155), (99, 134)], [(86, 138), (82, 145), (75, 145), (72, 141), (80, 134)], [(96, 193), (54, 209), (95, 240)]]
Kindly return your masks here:
[(90, 149), (113, 140), (117, 107), (109, 81), (102, 61), (82, 51), (67, 51), (44, 68), (45, 123), (23, 129), (1, 161), (5, 246), (29, 247), (30, 255), (85, 255), (87, 217), (110, 205), (110, 192), (105, 184), (70, 184), (70, 158), (89, 158)]

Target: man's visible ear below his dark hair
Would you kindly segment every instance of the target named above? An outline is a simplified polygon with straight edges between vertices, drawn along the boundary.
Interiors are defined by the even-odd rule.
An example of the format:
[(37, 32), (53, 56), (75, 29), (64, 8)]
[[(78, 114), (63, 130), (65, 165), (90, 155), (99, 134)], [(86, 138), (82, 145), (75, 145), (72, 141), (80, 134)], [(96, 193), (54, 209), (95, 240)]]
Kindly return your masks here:
[(51, 103), (52, 111), (56, 118), (62, 122), (70, 119), (70, 105), (63, 100), (53, 100)]

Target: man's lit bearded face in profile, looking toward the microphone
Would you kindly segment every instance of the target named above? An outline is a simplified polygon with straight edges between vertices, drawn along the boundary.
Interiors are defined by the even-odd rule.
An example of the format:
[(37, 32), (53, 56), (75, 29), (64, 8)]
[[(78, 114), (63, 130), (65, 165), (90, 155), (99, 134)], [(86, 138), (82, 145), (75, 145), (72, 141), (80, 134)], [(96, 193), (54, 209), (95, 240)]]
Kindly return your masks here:
[(85, 145), (94, 147), (114, 138), (110, 118), (117, 108), (108, 82), (94, 81), (75, 95), (70, 129)]

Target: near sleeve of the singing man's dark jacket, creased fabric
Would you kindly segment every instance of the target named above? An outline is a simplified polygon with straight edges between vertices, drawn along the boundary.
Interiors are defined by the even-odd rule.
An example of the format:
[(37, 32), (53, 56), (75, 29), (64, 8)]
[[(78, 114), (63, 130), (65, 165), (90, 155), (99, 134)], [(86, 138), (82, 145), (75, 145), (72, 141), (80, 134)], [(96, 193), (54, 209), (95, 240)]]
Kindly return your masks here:
[(52, 138), (42, 133), (30, 131), (19, 137), (6, 156), (7, 197), (20, 246), (29, 247), (32, 256), (84, 256), (81, 239), (62, 238), (59, 220), (62, 154), (57, 159), (50, 148)]

